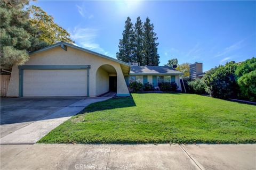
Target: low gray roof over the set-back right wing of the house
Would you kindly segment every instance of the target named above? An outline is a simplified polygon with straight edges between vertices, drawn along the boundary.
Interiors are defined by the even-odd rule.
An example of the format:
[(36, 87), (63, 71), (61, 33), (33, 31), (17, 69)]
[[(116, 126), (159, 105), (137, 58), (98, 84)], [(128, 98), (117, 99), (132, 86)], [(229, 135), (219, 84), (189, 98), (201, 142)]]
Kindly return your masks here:
[(131, 66), (130, 75), (182, 75), (183, 73), (169, 66)]

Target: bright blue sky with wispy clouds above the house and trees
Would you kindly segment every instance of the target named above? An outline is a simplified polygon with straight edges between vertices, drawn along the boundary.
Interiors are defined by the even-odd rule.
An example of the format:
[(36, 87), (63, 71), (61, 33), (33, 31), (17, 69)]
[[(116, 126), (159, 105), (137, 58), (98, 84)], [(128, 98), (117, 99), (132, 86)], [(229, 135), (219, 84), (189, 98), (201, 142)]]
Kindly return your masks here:
[(147, 16), (160, 64), (202, 62), (203, 71), (256, 57), (256, 1), (36, 1), (75, 44), (116, 58), (129, 16)]

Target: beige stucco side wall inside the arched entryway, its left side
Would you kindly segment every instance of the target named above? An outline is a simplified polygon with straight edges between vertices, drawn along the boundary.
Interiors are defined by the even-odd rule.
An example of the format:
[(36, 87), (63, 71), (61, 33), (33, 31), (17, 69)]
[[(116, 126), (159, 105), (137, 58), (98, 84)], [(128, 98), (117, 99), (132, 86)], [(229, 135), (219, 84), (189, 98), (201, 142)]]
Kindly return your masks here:
[(109, 90), (109, 73), (101, 67), (96, 73), (96, 96), (104, 94)]

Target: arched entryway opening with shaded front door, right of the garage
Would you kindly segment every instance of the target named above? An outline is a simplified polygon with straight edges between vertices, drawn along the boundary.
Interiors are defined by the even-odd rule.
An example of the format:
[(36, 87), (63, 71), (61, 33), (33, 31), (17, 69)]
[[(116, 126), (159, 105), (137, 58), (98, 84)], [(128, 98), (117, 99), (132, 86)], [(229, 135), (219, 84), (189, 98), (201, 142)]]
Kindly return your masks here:
[(96, 72), (96, 96), (117, 90), (116, 69), (109, 64), (101, 65)]

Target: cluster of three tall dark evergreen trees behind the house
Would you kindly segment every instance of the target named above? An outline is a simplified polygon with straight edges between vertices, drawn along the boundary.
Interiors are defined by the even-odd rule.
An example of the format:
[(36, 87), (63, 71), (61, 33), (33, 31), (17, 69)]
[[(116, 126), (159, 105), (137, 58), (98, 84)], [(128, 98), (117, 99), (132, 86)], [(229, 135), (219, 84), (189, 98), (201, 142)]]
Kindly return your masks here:
[(137, 62), (141, 65), (158, 65), (157, 39), (154, 25), (150, 23), (149, 18), (142, 23), (140, 17), (138, 17), (133, 27), (131, 19), (127, 17), (123, 38), (119, 40), (119, 52), (116, 53), (116, 57), (118, 60), (127, 63)]

